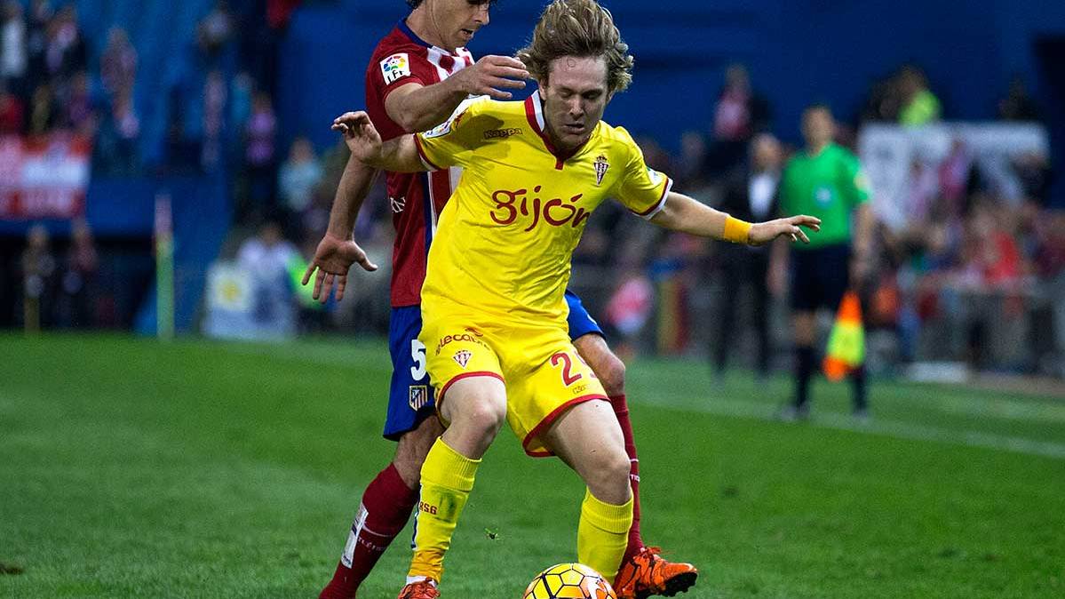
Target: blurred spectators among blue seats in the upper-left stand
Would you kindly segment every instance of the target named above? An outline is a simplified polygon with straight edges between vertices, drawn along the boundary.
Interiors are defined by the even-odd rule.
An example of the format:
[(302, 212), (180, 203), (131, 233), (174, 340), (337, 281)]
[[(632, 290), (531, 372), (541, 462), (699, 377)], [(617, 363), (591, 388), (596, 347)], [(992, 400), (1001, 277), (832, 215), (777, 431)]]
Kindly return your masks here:
[[(95, 140), (94, 174), (204, 173), (225, 165), (273, 179), (277, 122), (272, 106), (277, 37), (298, 2), (219, 0), (196, 27), (182, 60), (194, 67), (166, 81), (161, 157), (144, 151), (142, 64), (130, 34), (111, 27), (86, 41), (73, 3), (4, 0), (0, 25), (0, 134), (67, 131)], [(58, 6), (58, 7), (56, 7)], [(95, 47), (89, 48), (91, 44)], [(157, 101), (149, 98), (147, 101)], [(152, 143), (148, 143), (152, 142)], [(152, 155), (150, 158), (146, 153)], [(245, 182), (249, 188), (251, 183)], [(249, 195), (264, 207), (274, 185)]]

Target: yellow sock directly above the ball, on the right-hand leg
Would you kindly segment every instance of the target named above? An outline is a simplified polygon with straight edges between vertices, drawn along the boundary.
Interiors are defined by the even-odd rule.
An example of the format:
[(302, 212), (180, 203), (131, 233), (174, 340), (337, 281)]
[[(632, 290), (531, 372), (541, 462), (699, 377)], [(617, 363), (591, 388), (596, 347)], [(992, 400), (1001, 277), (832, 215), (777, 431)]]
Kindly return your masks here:
[(577, 527), (577, 561), (613, 582), (628, 546), (628, 529), (632, 525), (632, 498), (624, 505), (611, 505), (587, 491), (580, 504), (580, 525)]

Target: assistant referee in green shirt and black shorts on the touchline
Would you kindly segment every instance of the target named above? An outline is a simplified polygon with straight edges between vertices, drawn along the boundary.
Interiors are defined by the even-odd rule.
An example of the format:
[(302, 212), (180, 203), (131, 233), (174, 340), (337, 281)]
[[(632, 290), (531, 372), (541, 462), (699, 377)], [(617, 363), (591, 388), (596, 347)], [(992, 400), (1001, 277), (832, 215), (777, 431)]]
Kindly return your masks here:
[[(790, 307), (794, 331), (796, 390), (784, 406), (786, 420), (809, 414), (809, 382), (819, 356), (817, 310), (836, 310), (848, 289), (862, 293), (870, 272), (874, 217), (869, 184), (857, 157), (833, 143), (836, 124), (832, 111), (814, 104), (803, 112), (806, 147), (787, 163), (781, 177), (782, 214), (809, 214), (821, 218), (821, 230), (809, 244), (773, 247), (771, 285), (781, 292), (785, 275), (790, 280)], [(790, 250), (790, 256), (788, 255)], [(868, 418), (865, 367), (851, 373), (854, 415)]]

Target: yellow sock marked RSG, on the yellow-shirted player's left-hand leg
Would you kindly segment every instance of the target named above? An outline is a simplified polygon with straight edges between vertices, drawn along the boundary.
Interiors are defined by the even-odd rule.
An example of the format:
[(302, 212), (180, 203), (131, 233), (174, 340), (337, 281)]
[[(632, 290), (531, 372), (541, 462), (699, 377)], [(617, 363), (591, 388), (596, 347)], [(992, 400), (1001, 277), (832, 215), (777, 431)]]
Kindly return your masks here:
[[(470, 490), (473, 489), (473, 479), (478, 466), (479, 459), (465, 457), (449, 448), (442, 438), (437, 439), (429, 450), (422, 466), (414, 557), (411, 560), (408, 580), (425, 577), (440, 581), (444, 573), (444, 553), (452, 545), (455, 525), (470, 497)], [(618, 560), (620, 562), (621, 557)]]

